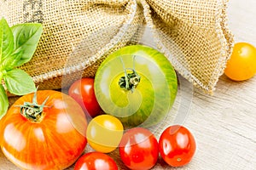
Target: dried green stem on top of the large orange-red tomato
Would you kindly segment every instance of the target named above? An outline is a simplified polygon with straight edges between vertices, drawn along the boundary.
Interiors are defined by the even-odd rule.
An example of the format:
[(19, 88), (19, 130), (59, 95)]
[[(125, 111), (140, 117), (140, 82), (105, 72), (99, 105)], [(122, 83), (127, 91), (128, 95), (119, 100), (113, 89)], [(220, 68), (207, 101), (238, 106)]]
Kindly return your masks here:
[(24, 102), (24, 105), (20, 106), (20, 114), (25, 116), (28, 120), (32, 122), (40, 122), (43, 119), (43, 111), (46, 101), (49, 99), (49, 96), (44, 99), (42, 105), (38, 105), (37, 101), (37, 91), (34, 93), (32, 103)]

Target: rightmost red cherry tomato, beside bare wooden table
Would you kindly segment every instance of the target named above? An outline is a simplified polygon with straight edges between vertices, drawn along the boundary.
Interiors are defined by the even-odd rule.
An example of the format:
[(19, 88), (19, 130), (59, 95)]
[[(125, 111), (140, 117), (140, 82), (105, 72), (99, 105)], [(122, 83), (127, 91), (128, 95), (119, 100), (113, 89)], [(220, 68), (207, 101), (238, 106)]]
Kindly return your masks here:
[(195, 155), (195, 138), (186, 127), (173, 125), (161, 133), (160, 156), (172, 167), (182, 167)]

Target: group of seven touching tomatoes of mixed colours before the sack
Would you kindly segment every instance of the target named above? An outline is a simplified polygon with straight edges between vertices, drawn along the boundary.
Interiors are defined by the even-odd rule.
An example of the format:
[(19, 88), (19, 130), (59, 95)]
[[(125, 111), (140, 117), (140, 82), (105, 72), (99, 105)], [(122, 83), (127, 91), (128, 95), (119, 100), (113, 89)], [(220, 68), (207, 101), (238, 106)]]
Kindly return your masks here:
[[(195, 139), (187, 128), (168, 127), (159, 140), (147, 128), (166, 116), (177, 94), (166, 57), (131, 46), (110, 55), (99, 70), (97, 78), (73, 82), (68, 95), (39, 90), (20, 97), (1, 119), (3, 154), (22, 169), (64, 169), (76, 162), (75, 170), (114, 170), (108, 153), (117, 149), (131, 169), (150, 169), (159, 155), (172, 167), (189, 163)], [(84, 153), (87, 144), (94, 151)]]

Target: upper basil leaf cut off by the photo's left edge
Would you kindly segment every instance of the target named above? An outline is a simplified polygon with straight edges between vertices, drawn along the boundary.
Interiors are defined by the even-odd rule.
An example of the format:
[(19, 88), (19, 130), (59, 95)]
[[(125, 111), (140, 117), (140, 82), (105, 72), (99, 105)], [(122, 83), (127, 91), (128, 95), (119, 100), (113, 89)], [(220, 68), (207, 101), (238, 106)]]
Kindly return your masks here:
[(14, 50), (14, 36), (5, 19), (0, 20), (0, 64)]

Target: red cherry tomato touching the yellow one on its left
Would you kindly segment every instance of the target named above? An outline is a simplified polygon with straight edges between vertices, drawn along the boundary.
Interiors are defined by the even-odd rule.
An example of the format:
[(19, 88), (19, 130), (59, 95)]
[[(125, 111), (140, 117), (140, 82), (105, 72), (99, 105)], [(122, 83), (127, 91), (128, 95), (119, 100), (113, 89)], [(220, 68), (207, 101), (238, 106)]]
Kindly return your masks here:
[(158, 142), (148, 129), (127, 130), (119, 144), (119, 155), (126, 167), (146, 170), (154, 167), (159, 157)]

